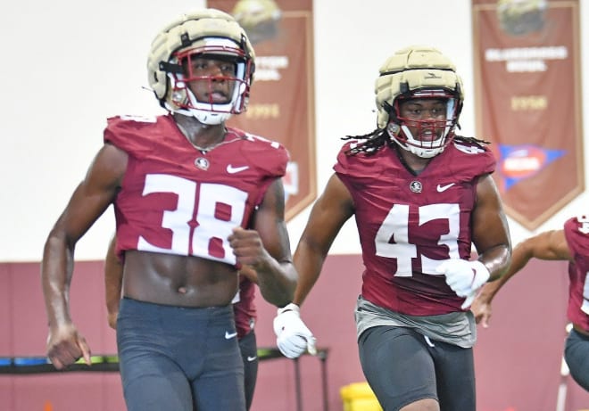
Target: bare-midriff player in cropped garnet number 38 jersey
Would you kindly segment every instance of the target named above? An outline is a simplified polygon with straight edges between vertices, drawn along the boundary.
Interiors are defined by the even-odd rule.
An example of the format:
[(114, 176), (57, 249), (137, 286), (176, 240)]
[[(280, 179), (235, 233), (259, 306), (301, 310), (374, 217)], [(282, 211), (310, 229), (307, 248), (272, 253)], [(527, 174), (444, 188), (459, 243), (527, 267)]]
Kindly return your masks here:
[(293, 298), (287, 152), (225, 126), (245, 111), (254, 61), (244, 29), (225, 12), (197, 10), (167, 24), (147, 74), (168, 113), (108, 120), (103, 148), (46, 241), (47, 356), (58, 369), (78, 358), (89, 364), (70, 315), (72, 261), (79, 238), (114, 205), (123, 264), (117, 349), (129, 411), (245, 411), (231, 304), (239, 270), (254, 273), (270, 303)]

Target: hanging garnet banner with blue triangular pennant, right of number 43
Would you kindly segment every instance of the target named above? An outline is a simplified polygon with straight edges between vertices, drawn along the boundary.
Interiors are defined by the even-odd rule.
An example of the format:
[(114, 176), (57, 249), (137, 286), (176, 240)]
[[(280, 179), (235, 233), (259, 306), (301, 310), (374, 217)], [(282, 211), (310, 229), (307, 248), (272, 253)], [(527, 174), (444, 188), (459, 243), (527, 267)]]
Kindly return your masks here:
[(472, 0), (477, 137), (535, 230), (585, 190), (578, 0)]

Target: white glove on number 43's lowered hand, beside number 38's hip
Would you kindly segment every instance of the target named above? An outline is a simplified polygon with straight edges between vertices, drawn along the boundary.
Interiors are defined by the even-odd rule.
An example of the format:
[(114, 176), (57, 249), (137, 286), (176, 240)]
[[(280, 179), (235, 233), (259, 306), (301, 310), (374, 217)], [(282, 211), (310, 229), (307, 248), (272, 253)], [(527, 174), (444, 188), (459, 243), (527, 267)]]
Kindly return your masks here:
[(315, 337), (304, 325), (296, 304), (278, 308), (278, 315), (274, 318), (274, 333), (278, 349), (286, 358), (299, 358), (307, 350), (311, 355), (317, 354)]

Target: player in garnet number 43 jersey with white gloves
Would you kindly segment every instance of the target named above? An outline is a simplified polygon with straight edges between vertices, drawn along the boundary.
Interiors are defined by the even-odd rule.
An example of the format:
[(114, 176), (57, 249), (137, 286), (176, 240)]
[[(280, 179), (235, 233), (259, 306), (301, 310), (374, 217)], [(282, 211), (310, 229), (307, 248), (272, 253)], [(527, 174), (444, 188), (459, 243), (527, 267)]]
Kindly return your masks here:
[(438, 50), (417, 45), (394, 53), (376, 93), (377, 129), (344, 144), (294, 252), (299, 283), (274, 320), (278, 347), (291, 358), (312, 349), (299, 305), (354, 216), (365, 267), (358, 345), (380, 405), (474, 411), (476, 325), (468, 308), (510, 262), (509, 230), (490, 177), (495, 160), (485, 142), (454, 136), (462, 83)]

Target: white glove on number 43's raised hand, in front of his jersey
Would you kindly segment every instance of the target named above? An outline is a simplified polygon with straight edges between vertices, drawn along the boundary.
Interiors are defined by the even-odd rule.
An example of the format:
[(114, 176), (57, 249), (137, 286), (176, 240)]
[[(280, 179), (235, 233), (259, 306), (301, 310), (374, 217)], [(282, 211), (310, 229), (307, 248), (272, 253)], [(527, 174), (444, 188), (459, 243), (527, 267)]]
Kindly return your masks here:
[(477, 296), (478, 289), (483, 286), (491, 276), (485, 264), (479, 260), (444, 259), (436, 267), (436, 271), (446, 276), (446, 284), (452, 288), (456, 295), (465, 297), (461, 308), (467, 308)]

